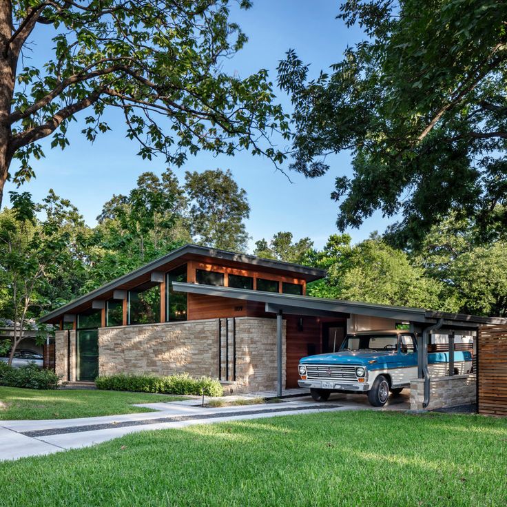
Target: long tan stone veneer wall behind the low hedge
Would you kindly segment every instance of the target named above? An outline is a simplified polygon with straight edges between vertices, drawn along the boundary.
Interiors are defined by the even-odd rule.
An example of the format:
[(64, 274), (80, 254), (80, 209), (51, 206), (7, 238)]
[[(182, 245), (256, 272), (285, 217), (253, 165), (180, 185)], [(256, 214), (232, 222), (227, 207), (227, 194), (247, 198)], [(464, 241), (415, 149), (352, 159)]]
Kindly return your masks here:
[[(229, 379), (225, 377), (225, 319), (222, 325), (222, 380), (225, 391), (276, 387), (276, 320), (236, 318), (236, 382), (233, 378), (233, 319), (229, 318)], [(283, 333), (285, 340), (285, 333)], [(285, 343), (282, 344), (285, 371)], [(142, 324), (99, 329), (99, 375), (151, 373), (218, 377), (218, 319)], [(227, 392), (228, 393), (228, 392)]]

